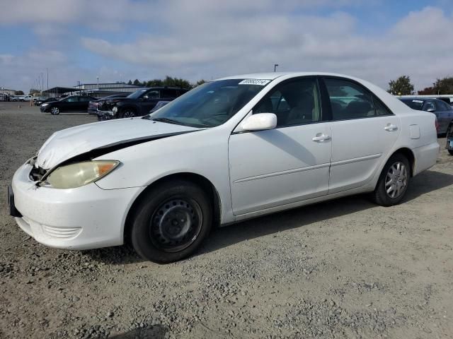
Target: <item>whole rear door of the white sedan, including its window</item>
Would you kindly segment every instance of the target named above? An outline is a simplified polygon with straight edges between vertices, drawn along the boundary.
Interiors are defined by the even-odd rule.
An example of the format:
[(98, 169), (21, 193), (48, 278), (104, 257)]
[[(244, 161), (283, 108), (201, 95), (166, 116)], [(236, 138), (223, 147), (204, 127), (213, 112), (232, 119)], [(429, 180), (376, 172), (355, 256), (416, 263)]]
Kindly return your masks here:
[(323, 78), (331, 104), (329, 194), (369, 182), (400, 133), (398, 117), (360, 83)]

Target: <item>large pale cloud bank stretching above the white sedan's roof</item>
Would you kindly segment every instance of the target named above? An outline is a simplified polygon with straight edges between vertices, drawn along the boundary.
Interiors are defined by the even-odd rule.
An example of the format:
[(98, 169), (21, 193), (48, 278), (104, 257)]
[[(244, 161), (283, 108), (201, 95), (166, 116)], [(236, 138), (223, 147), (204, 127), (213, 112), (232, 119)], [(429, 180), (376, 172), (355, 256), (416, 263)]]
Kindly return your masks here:
[[(294, 11), (291, 1), (283, 1), (276, 13), (269, 11), (270, 1), (263, 1), (259, 10), (256, 3), (247, 2), (243, 13), (258, 15), (239, 18), (235, 11), (242, 1), (219, 6), (209, 2), (201, 8), (190, 6), (192, 2), (180, 4), (183, 11), (175, 11), (171, 4), (160, 16), (165, 34), (142, 35), (122, 44), (83, 37), (81, 44), (105, 58), (148, 66), (159, 76), (192, 78), (269, 71), (277, 63), (282, 71), (348, 73), (382, 87), (391, 78), (408, 74), (421, 88), (449, 75), (453, 64), (449, 44), (453, 18), (440, 8), (411, 11), (379, 34), (365, 35), (348, 13), (307, 15)], [(285, 13), (285, 4), (293, 11)]]

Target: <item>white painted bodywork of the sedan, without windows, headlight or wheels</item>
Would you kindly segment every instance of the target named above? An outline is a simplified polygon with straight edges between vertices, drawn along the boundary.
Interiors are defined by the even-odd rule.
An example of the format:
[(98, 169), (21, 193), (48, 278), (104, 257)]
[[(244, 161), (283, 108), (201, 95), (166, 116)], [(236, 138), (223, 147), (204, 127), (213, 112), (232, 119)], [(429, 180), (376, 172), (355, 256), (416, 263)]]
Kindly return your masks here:
[[(275, 85), (299, 76), (340, 76), (357, 81), (377, 95), (394, 116), (235, 133), (239, 123)], [(35, 166), (52, 169), (106, 145), (151, 140), (96, 155), (96, 160), (119, 160), (120, 165), (96, 183), (77, 189), (38, 187), (28, 177), (32, 167), (26, 163), (13, 177), (16, 206), (23, 215), (17, 219), (18, 225), (49, 246), (114, 246), (124, 242), (125, 220), (139, 194), (171, 174), (190, 173), (207, 179), (219, 198), (220, 222), (226, 225), (373, 191), (386, 161), (401, 148), (408, 148), (415, 157), (414, 175), (435, 164), (439, 151), (435, 115), (414, 111), (367, 81), (314, 72), (228, 78), (270, 83), (217, 127), (195, 129), (134, 118), (76, 126), (52, 135), (42, 145)], [(388, 124), (398, 129), (387, 131)], [(319, 133), (330, 139), (312, 141)], [(156, 140), (152, 140), (154, 136)]]

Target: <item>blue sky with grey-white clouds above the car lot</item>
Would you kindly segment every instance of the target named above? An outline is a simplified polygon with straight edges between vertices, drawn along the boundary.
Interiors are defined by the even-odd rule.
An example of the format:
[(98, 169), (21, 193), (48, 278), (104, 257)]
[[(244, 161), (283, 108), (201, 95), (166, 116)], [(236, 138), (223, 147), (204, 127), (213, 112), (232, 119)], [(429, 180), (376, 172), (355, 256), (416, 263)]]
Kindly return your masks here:
[(0, 87), (328, 71), (453, 76), (453, 0), (0, 0)]

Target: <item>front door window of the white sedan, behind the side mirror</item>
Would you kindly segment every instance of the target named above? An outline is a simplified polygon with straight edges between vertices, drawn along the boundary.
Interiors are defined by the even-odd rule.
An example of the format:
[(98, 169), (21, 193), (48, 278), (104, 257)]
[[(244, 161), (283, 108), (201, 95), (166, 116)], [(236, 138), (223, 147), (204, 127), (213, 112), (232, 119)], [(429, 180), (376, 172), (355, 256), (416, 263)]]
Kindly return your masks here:
[(253, 114), (274, 113), (277, 128), (321, 121), (321, 98), (316, 78), (299, 78), (275, 86), (253, 108)]

